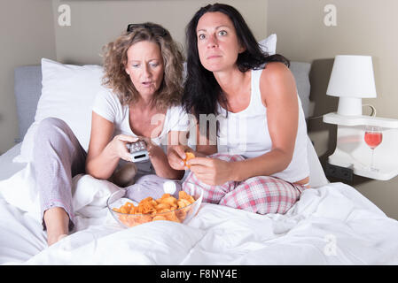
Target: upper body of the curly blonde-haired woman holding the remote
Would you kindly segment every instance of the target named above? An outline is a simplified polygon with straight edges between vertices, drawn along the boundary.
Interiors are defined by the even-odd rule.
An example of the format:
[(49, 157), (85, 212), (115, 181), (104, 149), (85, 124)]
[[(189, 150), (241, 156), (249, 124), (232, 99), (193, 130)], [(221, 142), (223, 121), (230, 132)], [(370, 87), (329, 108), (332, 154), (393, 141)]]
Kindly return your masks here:
[(183, 171), (169, 166), (164, 147), (187, 126), (179, 106), (183, 56), (176, 42), (159, 25), (130, 24), (107, 44), (104, 57), (107, 88), (93, 106), (87, 172), (108, 179), (120, 159), (131, 161), (126, 143), (140, 137), (148, 144), (151, 162), (138, 164), (138, 175), (181, 178)]

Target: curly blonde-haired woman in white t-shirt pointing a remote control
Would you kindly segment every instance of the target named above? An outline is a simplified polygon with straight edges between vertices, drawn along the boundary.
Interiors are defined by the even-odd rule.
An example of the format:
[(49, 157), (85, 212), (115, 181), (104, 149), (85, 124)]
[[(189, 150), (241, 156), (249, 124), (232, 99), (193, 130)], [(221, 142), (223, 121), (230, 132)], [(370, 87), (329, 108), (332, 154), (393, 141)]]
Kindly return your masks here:
[(143, 139), (148, 150), (149, 160), (137, 164), (136, 177), (183, 177), (167, 157), (170, 142), (178, 143), (188, 131), (187, 114), (180, 106), (183, 55), (168, 30), (154, 23), (130, 24), (105, 46), (104, 70), (104, 88), (92, 108), (87, 154), (64, 121), (44, 119), (39, 126), (35, 169), (49, 245), (74, 226), (74, 175), (111, 179), (121, 164), (131, 164), (128, 143)]

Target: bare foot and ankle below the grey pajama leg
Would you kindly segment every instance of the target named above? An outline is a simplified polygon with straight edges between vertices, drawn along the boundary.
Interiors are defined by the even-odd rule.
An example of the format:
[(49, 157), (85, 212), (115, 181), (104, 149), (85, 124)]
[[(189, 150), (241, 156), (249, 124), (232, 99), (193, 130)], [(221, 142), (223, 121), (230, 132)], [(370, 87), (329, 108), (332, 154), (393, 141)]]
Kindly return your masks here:
[(47, 228), (47, 244), (49, 246), (67, 236), (69, 232), (69, 216), (61, 207), (53, 207), (44, 212), (44, 223)]

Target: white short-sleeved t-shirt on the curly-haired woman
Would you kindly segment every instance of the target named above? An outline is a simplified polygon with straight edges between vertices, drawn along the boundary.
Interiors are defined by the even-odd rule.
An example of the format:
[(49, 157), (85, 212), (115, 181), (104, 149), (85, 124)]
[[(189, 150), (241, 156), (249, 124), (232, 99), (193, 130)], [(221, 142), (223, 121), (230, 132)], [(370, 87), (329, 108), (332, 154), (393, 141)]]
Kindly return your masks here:
[[(113, 91), (111, 89), (103, 87), (98, 92), (92, 107), (92, 111), (96, 112), (99, 116), (113, 123), (113, 137), (118, 134), (137, 136), (137, 134), (133, 133), (130, 128), (129, 105), (121, 105), (121, 101), (119, 100), (118, 96), (113, 94)], [(160, 116), (155, 115), (152, 118), (153, 123), (158, 124), (160, 118)], [(183, 111), (183, 108), (181, 106), (169, 107), (168, 111), (166, 112), (166, 119), (160, 135), (151, 140), (153, 143), (159, 145), (165, 153), (167, 153), (168, 132), (188, 130), (188, 114)], [(126, 161), (121, 159), (119, 165), (124, 163), (126, 163)], [(149, 160), (137, 163), (137, 168), (137, 174), (139, 175), (155, 173)]]

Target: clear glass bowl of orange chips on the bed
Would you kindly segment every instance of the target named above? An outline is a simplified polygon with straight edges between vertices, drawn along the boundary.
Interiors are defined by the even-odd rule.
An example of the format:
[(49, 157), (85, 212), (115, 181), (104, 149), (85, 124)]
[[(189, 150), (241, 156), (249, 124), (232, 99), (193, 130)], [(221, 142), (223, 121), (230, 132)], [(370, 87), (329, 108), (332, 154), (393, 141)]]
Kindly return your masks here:
[(203, 189), (191, 182), (180, 184), (183, 189), (174, 194), (178, 197), (165, 193), (158, 199), (148, 196), (137, 203), (126, 198), (126, 190), (121, 189), (109, 196), (106, 205), (116, 222), (125, 228), (157, 220), (187, 223), (199, 210)]

